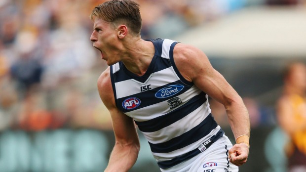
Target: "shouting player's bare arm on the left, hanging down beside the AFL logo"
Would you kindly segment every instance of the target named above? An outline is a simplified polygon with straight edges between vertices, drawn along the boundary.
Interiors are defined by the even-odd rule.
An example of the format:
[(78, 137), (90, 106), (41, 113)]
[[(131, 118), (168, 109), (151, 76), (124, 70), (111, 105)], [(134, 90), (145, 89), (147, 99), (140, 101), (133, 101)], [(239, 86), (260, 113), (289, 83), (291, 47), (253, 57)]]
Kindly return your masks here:
[(111, 113), (115, 133), (115, 146), (105, 172), (127, 172), (136, 162), (140, 144), (133, 119), (115, 106), (110, 68), (98, 79), (100, 97)]

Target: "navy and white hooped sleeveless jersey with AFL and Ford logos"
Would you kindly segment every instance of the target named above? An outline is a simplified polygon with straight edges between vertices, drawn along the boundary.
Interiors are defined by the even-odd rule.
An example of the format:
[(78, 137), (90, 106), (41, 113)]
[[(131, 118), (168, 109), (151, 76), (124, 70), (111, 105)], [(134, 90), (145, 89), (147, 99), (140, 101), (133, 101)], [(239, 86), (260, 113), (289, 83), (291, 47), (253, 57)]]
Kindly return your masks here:
[(168, 169), (201, 153), (203, 142), (224, 132), (211, 115), (208, 95), (175, 66), (177, 42), (149, 41), (155, 53), (147, 72), (137, 76), (118, 62), (111, 66), (111, 81), (117, 108), (134, 119), (158, 166)]

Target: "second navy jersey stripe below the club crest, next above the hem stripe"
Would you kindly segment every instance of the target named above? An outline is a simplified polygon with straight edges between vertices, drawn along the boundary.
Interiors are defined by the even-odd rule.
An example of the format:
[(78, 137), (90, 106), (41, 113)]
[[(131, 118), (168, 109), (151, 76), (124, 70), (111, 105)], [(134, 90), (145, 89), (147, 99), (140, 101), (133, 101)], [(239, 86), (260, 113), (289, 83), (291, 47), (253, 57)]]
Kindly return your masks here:
[(180, 136), (163, 143), (153, 144), (149, 142), (151, 151), (155, 153), (168, 153), (181, 149), (205, 137), (217, 126), (213, 116), (209, 114), (199, 125)]

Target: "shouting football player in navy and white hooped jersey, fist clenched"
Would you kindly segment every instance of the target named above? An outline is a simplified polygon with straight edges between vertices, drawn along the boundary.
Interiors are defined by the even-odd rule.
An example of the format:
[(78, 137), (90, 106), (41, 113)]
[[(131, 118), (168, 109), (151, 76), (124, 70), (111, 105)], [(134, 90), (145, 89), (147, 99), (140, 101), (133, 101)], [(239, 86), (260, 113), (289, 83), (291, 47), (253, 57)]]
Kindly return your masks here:
[[(90, 40), (110, 66), (98, 79), (115, 132), (105, 172), (127, 172), (135, 164), (135, 123), (162, 172), (238, 172), (249, 155), (249, 115), (206, 55), (168, 39), (143, 40), (139, 5), (132, 0), (102, 3), (90, 18)], [(236, 144), (214, 120), (208, 95), (226, 107)]]

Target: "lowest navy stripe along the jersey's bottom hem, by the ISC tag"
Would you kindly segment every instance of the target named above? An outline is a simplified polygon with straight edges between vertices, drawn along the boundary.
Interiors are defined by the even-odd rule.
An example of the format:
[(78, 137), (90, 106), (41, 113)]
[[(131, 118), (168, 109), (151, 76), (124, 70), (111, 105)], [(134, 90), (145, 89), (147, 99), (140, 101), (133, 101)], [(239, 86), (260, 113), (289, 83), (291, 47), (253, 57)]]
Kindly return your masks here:
[[(220, 129), (216, 135), (212, 136), (210, 139), (212, 140), (212, 142), (210, 142), (209, 144), (206, 144), (206, 149), (208, 149), (214, 142), (216, 142), (220, 137), (222, 137), (224, 135), (224, 131), (222, 129)], [(205, 150), (204, 150), (205, 151)], [(173, 167), (177, 164), (182, 163), (183, 161), (189, 160), (192, 157), (196, 156), (197, 154), (201, 153), (199, 151), (198, 148), (187, 152), (184, 155), (178, 156), (176, 158), (173, 158), (172, 160), (168, 160), (168, 161), (160, 161), (157, 162), (157, 165), (161, 168), (161, 169), (168, 169), (170, 167)]]

